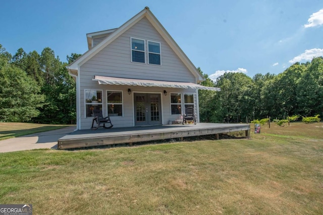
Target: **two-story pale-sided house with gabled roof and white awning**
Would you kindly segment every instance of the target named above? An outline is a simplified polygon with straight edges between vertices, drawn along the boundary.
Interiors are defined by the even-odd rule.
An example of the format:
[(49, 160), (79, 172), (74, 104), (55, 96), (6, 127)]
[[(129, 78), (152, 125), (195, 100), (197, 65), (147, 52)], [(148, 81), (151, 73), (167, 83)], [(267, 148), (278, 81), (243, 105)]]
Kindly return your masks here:
[(67, 66), (76, 81), (77, 129), (92, 110), (114, 127), (169, 124), (192, 106), (199, 121), (203, 77), (146, 7), (119, 28), (87, 34), (89, 50)]

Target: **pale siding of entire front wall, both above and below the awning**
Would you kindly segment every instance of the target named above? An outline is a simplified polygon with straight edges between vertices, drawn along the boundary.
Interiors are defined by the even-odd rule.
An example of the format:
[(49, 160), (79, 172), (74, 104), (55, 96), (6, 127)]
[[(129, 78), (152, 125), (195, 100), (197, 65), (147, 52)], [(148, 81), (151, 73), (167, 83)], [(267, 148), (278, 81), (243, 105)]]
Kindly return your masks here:
[[(156, 66), (149, 63), (133, 63), (131, 62), (131, 38), (140, 38), (147, 41), (160, 42), (160, 57), (162, 64)], [(148, 61), (147, 44), (146, 62)], [(97, 81), (92, 81), (93, 76), (110, 76), (128, 79), (150, 79), (157, 81), (173, 81), (173, 82), (191, 82), (196, 83), (196, 79), (189, 69), (184, 65), (181, 59), (176, 55), (173, 49), (168, 45), (163, 37), (155, 30), (150, 22), (143, 18), (133, 25), (129, 30), (116, 38), (109, 45), (87, 60), (80, 66), (80, 104), (85, 104), (85, 89), (97, 89), (103, 91), (102, 98), (102, 114), (108, 115), (107, 111), (107, 90), (122, 91), (123, 97), (123, 117), (112, 117), (114, 127), (134, 126), (134, 109), (133, 109), (133, 93), (128, 94), (128, 88), (132, 92), (147, 92), (161, 94), (161, 110), (163, 124), (170, 121), (180, 120), (181, 115), (171, 114), (170, 94), (165, 96), (163, 91), (172, 93), (181, 93), (182, 99), (184, 93), (193, 94), (196, 91), (190, 89), (164, 89), (159, 87), (140, 87), (140, 86), (122, 86), (122, 85), (99, 85)], [(194, 105), (196, 106), (196, 104)], [(184, 101), (182, 101), (182, 109)], [(80, 110), (80, 129), (90, 129), (92, 117), (85, 117), (86, 107), (81, 105)], [(182, 111), (184, 113), (184, 111)]]

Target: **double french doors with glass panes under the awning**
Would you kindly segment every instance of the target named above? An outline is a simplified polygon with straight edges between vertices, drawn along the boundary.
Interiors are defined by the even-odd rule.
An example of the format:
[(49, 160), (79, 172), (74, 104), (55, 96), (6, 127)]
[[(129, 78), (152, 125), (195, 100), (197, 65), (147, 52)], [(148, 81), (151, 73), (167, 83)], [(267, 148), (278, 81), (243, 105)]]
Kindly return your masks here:
[(160, 94), (134, 93), (135, 125), (161, 124)]

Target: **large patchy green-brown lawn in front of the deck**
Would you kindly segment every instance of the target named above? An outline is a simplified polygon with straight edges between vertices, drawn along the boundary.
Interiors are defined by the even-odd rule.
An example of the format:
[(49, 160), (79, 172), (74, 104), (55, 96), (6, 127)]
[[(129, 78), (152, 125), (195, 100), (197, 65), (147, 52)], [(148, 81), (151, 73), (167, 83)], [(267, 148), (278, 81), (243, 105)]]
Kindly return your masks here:
[(0, 154), (0, 202), (34, 214), (323, 214), (323, 123), (251, 139)]

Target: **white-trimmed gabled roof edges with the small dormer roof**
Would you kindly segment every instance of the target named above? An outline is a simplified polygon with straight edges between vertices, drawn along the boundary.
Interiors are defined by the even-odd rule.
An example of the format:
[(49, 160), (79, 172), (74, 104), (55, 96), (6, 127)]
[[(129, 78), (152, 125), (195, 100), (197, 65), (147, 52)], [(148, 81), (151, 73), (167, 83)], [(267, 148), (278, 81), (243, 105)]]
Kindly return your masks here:
[(145, 7), (141, 12), (135, 15), (133, 18), (128, 20), (125, 24), (120, 26), (117, 29), (106, 30), (107, 32), (94, 32), (88, 34), (87, 36), (96, 36), (107, 33), (107, 37), (102, 40), (99, 44), (85, 52), (82, 56), (72, 62), (67, 68), (71, 73), (77, 72), (79, 66), (97, 54), (104, 47), (112, 43), (115, 39), (121, 36), (124, 32), (126, 32), (129, 28), (139, 22), (142, 18), (146, 17), (148, 21), (152, 24), (152, 26), (156, 29), (156, 31), (164, 38), (164, 40), (169, 44), (169, 46), (173, 49), (173, 51), (177, 54), (177, 56), (182, 60), (182, 62), (186, 65), (186, 67), (191, 71), (191, 73), (195, 76), (197, 82), (203, 81), (203, 77), (196, 69), (194, 64), (190, 61), (190, 59), (186, 56), (183, 50), (178, 46), (175, 40), (171, 37), (171, 35), (166, 31), (166, 29), (159, 23), (157, 18), (151, 13), (148, 7)]

